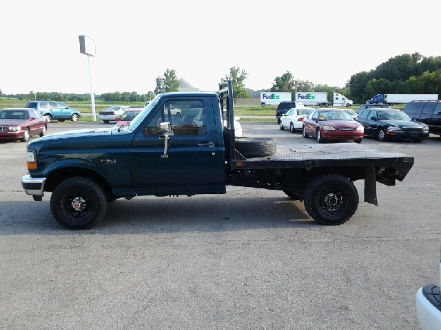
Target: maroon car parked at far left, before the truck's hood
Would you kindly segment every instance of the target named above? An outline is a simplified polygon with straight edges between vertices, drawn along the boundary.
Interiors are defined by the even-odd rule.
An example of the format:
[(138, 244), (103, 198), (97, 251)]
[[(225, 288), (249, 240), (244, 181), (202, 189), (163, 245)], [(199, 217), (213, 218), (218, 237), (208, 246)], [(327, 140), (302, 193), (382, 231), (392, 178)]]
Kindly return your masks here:
[(31, 135), (46, 135), (48, 123), (30, 108), (0, 109), (0, 140), (28, 142)]

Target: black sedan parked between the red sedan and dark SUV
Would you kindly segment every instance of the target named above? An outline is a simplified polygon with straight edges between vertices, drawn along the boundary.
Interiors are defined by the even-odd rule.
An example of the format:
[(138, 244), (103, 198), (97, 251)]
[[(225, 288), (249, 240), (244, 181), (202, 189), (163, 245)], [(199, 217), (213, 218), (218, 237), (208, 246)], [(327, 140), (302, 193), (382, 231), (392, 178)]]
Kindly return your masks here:
[(429, 136), (429, 126), (411, 120), (398, 109), (367, 109), (358, 114), (358, 122), (365, 126), (366, 135), (377, 137), (378, 141), (410, 139), (421, 142)]

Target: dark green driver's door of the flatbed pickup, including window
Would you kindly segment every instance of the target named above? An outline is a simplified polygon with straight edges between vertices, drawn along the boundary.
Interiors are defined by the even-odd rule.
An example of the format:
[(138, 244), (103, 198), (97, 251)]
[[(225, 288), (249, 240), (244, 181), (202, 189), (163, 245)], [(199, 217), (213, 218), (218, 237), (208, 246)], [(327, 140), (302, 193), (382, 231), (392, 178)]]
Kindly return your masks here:
[[(170, 122), (167, 152), (158, 128)], [(190, 195), (225, 190), (212, 99), (165, 98), (134, 135), (130, 172), (138, 195)]]

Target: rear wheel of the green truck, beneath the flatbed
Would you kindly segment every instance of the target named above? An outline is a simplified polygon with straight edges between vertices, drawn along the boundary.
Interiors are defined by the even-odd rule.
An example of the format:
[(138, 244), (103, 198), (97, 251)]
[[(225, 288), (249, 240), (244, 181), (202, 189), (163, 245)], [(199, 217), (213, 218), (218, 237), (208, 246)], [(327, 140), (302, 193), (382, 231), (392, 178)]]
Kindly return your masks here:
[(323, 225), (345, 223), (358, 208), (358, 192), (342, 175), (320, 175), (309, 182), (304, 195), (309, 216)]

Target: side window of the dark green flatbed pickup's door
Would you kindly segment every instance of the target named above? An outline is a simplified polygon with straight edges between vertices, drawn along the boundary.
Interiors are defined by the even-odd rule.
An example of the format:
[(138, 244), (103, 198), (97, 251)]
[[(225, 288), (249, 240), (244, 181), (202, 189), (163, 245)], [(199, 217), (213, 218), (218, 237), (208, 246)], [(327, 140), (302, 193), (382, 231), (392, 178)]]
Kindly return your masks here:
[(166, 101), (147, 124), (147, 135), (161, 135), (160, 123), (170, 122), (169, 135), (205, 135), (207, 109), (203, 100)]

